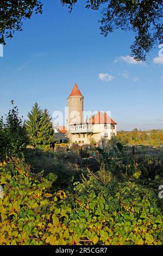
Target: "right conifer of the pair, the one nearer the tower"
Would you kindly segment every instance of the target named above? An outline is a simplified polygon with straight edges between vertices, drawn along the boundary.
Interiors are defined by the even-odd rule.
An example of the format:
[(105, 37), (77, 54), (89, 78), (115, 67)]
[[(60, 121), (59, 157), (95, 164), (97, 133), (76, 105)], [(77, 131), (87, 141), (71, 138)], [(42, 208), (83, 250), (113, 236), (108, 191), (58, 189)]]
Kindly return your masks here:
[(47, 109), (43, 112), (40, 120), (39, 143), (41, 145), (49, 145), (54, 141), (54, 129), (52, 125), (52, 118)]

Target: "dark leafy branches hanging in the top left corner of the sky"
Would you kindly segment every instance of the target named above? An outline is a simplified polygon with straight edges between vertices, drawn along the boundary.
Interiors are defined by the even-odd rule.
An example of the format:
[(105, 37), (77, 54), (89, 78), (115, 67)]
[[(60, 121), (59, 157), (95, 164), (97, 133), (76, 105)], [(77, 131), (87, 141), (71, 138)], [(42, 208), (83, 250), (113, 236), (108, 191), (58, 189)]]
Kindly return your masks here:
[(23, 20), (30, 19), (33, 12), (42, 13), (41, 0), (0, 1), (0, 44), (12, 38), (15, 31), (22, 31)]

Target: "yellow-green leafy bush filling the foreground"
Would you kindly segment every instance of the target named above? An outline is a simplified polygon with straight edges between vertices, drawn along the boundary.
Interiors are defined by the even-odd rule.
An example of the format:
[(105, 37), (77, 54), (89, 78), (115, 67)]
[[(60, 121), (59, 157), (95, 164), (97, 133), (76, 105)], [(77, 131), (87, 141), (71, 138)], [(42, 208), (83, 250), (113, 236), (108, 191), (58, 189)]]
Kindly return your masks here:
[(55, 174), (32, 175), (22, 163), (1, 163), (0, 245), (161, 245), (158, 198), (135, 182), (101, 173), (51, 193)]

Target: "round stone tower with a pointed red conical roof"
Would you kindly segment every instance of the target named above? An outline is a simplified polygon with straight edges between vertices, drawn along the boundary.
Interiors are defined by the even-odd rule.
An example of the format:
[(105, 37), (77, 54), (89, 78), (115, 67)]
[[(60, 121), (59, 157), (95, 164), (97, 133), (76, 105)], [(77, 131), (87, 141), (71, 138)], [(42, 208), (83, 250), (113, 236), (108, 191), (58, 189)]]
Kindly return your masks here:
[(68, 113), (67, 124), (82, 124), (83, 123), (83, 95), (77, 84), (74, 85), (70, 96), (67, 98)]

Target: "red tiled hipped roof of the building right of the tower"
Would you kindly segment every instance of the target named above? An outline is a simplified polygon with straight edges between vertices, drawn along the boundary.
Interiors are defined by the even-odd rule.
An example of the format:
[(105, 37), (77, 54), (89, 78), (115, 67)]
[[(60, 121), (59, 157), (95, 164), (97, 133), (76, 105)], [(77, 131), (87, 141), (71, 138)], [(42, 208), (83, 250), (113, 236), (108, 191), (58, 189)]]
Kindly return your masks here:
[(114, 120), (112, 120), (109, 115), (104, 112), (98, 112), (93, 115), (93, 117), (89, 118), (88, 123), (91, 124), (117, 124)]

